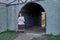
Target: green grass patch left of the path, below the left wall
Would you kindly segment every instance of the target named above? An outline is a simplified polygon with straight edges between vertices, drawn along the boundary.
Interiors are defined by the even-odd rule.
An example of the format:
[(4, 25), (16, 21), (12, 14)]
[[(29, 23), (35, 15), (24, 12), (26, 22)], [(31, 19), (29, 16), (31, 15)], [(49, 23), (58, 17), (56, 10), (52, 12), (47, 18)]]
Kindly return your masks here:
[(0, 33), (0, 40), (13, 40), (18, 35), (18, 32), (14, 31), (6, 31)]

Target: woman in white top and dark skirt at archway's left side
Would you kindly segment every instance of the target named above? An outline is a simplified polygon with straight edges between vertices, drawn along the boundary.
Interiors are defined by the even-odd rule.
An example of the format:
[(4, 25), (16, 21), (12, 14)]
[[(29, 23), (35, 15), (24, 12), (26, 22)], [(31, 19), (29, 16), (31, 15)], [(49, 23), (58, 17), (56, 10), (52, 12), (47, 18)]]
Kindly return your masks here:
[(20, 13), (20, 17), (18, 17), (18, 31), (24, 32), (25, 31), (25, 19), (24, 16)]

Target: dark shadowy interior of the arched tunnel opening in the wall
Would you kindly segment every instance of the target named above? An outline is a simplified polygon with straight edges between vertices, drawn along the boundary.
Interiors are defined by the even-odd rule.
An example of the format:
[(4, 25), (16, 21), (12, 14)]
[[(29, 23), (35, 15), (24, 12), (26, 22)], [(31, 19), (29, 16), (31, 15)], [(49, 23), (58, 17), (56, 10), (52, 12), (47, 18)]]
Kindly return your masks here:
[(42, 27), (42, 14), (45, 13), (45, 10), (40, 4), (35, 2), (28, 2), (21, 8), (20, 13), (24, 15), (26, 29), (35, 28), (39, 30)]

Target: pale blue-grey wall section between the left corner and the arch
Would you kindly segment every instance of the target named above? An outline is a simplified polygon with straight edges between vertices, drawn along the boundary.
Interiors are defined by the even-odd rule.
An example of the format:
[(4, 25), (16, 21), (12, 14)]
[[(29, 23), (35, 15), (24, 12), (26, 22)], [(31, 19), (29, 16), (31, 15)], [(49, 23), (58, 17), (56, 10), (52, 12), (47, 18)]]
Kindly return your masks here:
[(9, 30), (17, 30), (18, 28), (18, 13), (23, 5), (19, 6), (8, 6), (8, 29)]

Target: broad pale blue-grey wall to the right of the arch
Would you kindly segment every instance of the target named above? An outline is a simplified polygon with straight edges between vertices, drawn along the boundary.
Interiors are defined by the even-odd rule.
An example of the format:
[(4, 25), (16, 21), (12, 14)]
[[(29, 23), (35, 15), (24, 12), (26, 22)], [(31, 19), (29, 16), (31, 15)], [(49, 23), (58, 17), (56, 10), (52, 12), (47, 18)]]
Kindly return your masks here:
[(59, 35), (60, 34), (60, 1), (59, 0), (46, 0), (40, 2), (46, 11), (46, 33)]

